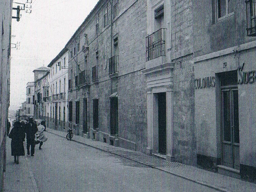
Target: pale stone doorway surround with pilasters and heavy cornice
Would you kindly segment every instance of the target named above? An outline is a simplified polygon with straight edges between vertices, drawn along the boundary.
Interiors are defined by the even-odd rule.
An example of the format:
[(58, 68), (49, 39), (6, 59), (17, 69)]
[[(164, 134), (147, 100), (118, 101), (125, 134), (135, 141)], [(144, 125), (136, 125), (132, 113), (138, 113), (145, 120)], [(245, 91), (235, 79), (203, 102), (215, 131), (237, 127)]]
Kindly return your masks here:
[(166, 93), (166, 159), (174, 161), (173, 147), (173, 69), (174, 63), (163, 63), (142, 70), (147, 83), (147, 154), (158, 154), (158, 100), (157, 94)]

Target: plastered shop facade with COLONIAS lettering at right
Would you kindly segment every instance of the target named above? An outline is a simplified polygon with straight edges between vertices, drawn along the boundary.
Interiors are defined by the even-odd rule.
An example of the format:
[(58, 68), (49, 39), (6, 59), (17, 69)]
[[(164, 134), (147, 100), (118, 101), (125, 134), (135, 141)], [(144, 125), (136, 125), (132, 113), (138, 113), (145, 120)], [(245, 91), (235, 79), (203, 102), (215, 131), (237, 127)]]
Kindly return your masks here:
[(256, 2), (223, 2), (193, 1), (197, 157), (256, 180)]

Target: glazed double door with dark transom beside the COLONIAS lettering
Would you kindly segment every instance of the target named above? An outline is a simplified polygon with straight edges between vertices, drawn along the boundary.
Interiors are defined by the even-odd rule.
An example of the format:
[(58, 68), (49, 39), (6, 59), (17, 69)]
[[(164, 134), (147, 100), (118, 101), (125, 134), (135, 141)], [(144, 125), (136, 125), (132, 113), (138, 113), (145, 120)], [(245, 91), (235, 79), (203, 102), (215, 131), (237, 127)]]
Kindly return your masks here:
[(239, 115), (237, 71), (220, 74), (222, 164), (239, 169)]

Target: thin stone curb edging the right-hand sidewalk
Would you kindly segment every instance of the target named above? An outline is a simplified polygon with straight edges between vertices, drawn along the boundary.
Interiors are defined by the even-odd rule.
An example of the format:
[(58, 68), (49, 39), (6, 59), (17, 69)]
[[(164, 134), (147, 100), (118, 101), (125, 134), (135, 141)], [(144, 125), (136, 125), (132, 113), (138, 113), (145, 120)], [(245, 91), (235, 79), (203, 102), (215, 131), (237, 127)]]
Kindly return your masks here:
[[(48, 131), (46, 131), (46, 132), (48, 132)], [(57, 136), (62, 137), (62, 138), (66, 138), (65, 136), (58, 135), (58, 134), (53, 133), (53, 132), (48, 132), (48, 133), (57, 135)], [(151, 167), (151, 168), (153, 168), (153, 169), (157, 169), (157, 170), (159, 170), (159, 171), (163, 171), (163, 172), (172, 174), (172, 175), (174, 175), (174, 176), (180, 177), (180, 178), (185, 179), (185, 180), (192, 181), (192, 182), (197, 183), (197, 184), (199, 184), (199, 185), (203, 185), (203, 186), (205, 186), (205, 187), (212, 188), (212, 189), (217, 190), (217, 191), (220, 191), (220, 192), (230, 192), (230, 191), (228, 191), (227, 189), (220, 188), (220, 187), (216, 187), (216, 186), (214, 186), (214, 185), (208, 184), (208, 183), (203, 182), (203, 181), (200, 181), (200, 180), (191, 179), (191, 178), (189, 178), (189, 177), (187, 177), (187, 176), (179, 175), (179, 174), (177, 174), (177, 173), (173, 173), (173, 172), (167, 171), (167, 170), (165, 170), (165, 169), (163, 169), (163, 168), (155, 167), (155, 166), (152, 165), (152, 164), (147, 164), (147, 163), (144, 163), (144, 162), (140, 162), (140, 161), (135, 160), (135, 159), (132, 159), (132, 158), (130, 158), (130, 157), (123, 156), (123, 155), (121, 155), (121, 154), (117, 154), (117, 153), (112, 152), (112, 151), (108, 151), (108, 150), (106, 150), (106, 149), (102, 149), (102, 148), (99, 148), (99, 147), (95, 147), (95, 146), (92, 146), (92, 145), (89, 145), (89, 144), (86, 144), (86, 143), (83, 143), (83, 142), (80, 142), (80, 141), (76, 141), (76, 140), (74, 140), (74, 139), (72, 139), (72, 141), (75, 141), (76, 143), (80, 143), (80, 144), (83, 144), (83, 145), (88, 146), (88, 147), (92, 147), (92, 148), (95, 148), (95, 149), (99, 149), (99, 150), (101, 150), (101, 151), (108, 152), (108, 153), (111, 153), (111, 154), (114, 154), (114, 155), (117, 155), (117, 156), (120, 156), (120, 157), (129, 159), (129, 160), (132, 160), (132, 161), (134, 161), (134, 162), (136, 162), (136, 163), (140, 163), (140, 164), (146, 165), (146, 166)]]

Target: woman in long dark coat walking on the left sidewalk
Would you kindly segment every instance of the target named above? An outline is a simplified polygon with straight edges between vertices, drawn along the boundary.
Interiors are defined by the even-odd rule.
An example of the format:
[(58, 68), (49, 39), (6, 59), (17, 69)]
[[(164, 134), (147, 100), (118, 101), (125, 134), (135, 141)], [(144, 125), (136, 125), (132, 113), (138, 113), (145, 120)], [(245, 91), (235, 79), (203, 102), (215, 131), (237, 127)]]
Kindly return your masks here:
[(11, 149), (12, 149), (12, 156), (14, 156), (14, 163), (19, 164), (19, 156), (25, 155), (25, 150), (23, 146), (23, 140), (25, 139), (26, 134), (21, 129), (20, 122), (17, 121), (14, 123), (14, 126), (9, 134), (9, 138), (12, 139), (11, 141)]

